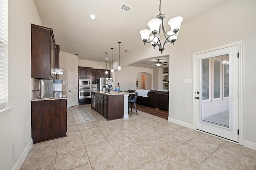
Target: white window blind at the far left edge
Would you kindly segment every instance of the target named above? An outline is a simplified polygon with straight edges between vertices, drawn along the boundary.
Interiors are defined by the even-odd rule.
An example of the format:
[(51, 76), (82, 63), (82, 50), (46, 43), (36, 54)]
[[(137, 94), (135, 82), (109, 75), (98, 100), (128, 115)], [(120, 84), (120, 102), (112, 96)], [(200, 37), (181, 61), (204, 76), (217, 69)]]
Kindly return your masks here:
[(0, 0), (0, 108), (8, 102), (8, 0)]

